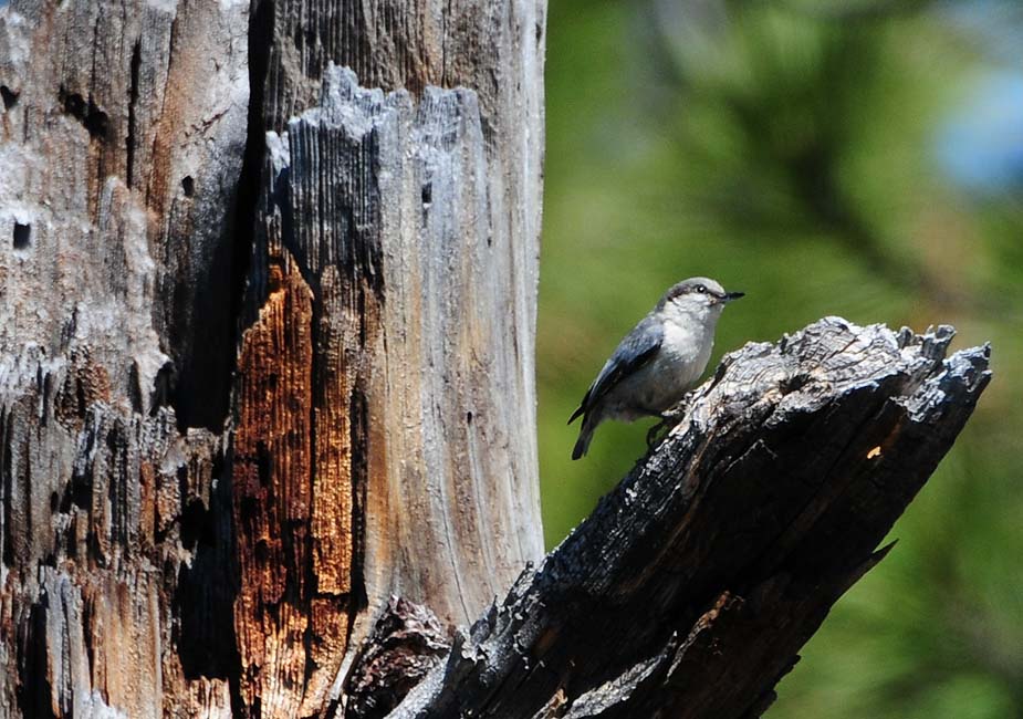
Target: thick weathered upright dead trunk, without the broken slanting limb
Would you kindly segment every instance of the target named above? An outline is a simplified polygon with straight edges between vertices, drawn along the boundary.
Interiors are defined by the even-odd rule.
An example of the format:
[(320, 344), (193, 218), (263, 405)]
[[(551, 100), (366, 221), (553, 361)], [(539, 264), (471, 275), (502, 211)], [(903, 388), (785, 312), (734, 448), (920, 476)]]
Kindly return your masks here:
[(336, 712), (392, 594), (542, 555), (543, 29), (2, 10), (0, 715)]

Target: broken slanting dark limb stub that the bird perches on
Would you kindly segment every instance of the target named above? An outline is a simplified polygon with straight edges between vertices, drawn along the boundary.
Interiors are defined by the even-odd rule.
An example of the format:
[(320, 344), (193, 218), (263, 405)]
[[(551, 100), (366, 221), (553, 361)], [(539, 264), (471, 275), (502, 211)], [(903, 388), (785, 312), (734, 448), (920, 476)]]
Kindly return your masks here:
[(828, 317), (726, 356), (389, 716), (760, 716), (987, 386), (951, 337)]

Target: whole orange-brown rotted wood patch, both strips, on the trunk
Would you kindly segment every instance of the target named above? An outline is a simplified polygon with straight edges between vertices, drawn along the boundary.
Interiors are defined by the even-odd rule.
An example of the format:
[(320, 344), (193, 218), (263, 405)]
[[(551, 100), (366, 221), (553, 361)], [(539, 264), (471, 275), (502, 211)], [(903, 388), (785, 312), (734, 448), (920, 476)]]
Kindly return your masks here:
[(242, 699), (265, 717), (320, 710), (347, 648), (366, 472), (362, 342), (379, 314), (373, 302), (361, 303), (368, 319), (354, 311), (361, 290), (334, 268), (317, 305), (291, 254), (275, 251), (286, 259), (242, 338), (233, 471)]

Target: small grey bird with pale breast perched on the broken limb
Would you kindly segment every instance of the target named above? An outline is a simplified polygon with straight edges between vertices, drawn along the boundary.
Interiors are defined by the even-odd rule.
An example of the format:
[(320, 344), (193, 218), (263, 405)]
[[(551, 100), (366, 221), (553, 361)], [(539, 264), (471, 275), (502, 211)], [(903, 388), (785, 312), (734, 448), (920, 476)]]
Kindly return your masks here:
[(583, 426), (572, 459), (586, 454), (594, 430), (605, 419), (633, 421), (676, 405), (707, 368), (714, 329), (724, 305), (743, 292), (726, 292), (708, 278), (671, 286), (633, 331), (618, 343), (572, 417)]

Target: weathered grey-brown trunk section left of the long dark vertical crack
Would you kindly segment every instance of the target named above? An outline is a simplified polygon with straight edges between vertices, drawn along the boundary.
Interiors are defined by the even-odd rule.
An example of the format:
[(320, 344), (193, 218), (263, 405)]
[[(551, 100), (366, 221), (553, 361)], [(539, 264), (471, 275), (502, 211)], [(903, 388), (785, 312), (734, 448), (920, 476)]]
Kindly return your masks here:
[(247, 6), (4, 6), (0, 716), (228, 716)]

